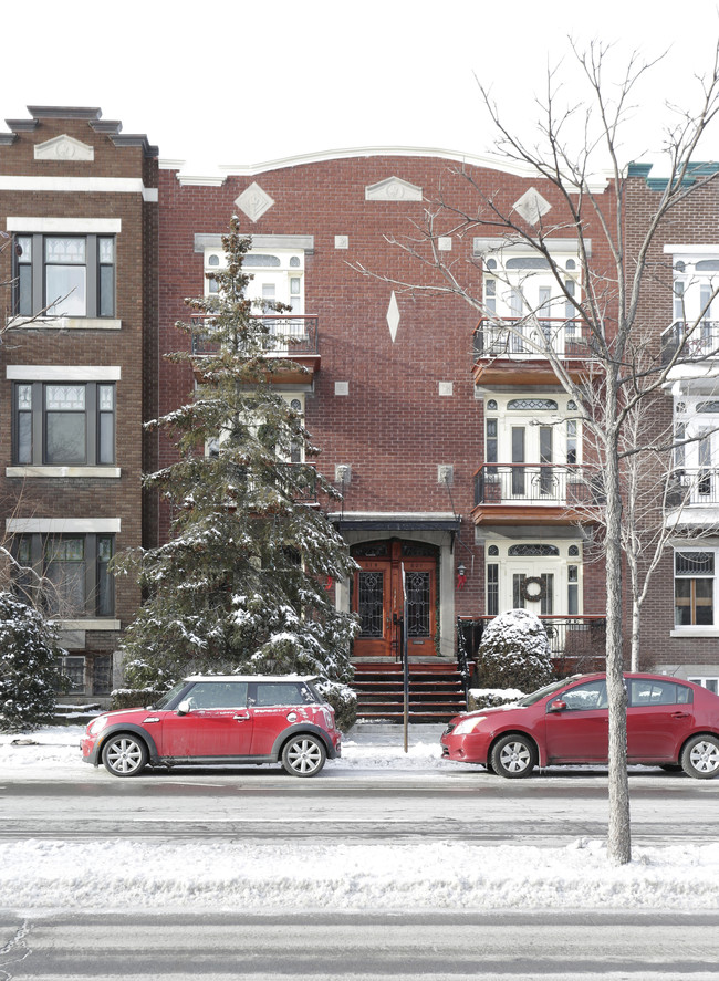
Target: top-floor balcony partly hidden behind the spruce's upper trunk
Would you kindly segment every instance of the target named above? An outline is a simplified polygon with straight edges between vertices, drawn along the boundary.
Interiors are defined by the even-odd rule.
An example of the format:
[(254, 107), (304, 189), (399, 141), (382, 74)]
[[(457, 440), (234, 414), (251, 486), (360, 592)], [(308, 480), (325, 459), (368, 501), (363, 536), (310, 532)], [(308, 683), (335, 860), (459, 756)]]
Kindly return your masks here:
[[(256, 316), (267, 328), (262, 349), (267, 357), (294, 362), (306, 371), (280, 368), (272, 373), (272, 380), (286, 384), (311, 384), (320, 371), (319, 317), (315, 315), (262, 314)], [(217, 354), (220, 345), (212, 337), (212, 317), (194, 317), (192, 354), (199, 357)]]

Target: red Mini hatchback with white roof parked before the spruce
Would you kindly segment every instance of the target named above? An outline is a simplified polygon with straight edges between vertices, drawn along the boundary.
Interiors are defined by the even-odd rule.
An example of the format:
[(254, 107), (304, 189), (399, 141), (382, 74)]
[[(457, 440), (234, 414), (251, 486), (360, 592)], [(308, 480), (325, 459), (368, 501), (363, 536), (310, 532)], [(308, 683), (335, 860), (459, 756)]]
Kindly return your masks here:
[(209, 675), (185, 678), (146, 709), (105, 712), (81, 741), (85, 763), (113, 776), (189, 763), (281, 763), (315, 776), (341, 755), (334, 709), (316, 678)]

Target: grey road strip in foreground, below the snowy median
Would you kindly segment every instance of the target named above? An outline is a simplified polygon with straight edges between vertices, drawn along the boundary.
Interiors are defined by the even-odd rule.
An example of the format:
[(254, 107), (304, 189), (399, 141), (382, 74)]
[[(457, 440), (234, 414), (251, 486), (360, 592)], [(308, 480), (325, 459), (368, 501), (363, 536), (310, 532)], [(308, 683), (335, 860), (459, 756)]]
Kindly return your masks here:
[(707, 981), (719, 916), (0, 916), (3, 979)]

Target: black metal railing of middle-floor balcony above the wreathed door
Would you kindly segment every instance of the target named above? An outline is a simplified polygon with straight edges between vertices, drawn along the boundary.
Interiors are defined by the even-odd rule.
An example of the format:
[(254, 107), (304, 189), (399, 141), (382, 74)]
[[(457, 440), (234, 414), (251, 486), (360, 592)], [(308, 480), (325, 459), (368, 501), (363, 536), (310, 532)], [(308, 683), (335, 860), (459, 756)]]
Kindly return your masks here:
[(591, 467), (556, 463), (484, 463), (475, 473), (475, 504), (596, 507), (604, 503), (602, 474)]

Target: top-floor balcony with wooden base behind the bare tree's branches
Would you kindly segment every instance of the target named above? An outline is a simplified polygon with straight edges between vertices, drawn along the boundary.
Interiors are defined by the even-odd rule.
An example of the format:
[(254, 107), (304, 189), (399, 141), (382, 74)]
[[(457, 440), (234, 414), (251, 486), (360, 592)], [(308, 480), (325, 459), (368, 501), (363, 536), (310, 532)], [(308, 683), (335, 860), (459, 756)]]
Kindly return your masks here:
[(576, 362), (571, 375), (579, 377), (580, 365), (591, 353), (586, 324), (566, 317), (483, 319), (475, 331), (476, 384), (533, 385), (556, 382), (546, 358), (548, 345), (564, 362)]

